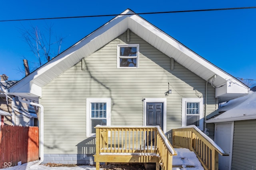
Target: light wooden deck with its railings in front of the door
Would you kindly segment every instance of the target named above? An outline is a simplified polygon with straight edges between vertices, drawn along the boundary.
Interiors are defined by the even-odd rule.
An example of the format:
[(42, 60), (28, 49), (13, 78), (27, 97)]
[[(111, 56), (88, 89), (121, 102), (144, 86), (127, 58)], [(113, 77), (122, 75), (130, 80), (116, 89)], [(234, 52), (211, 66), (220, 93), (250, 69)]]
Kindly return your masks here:
[[(172, 145), (159, 126), (96, 126), (96, 170), (100, 162), (154, 162), (156, 170), (172, 170)], [(173, 129), (176, 148), (195, 152), (205, 170), (218, 170), (218, 154), (228, 156), (195, 126)]]

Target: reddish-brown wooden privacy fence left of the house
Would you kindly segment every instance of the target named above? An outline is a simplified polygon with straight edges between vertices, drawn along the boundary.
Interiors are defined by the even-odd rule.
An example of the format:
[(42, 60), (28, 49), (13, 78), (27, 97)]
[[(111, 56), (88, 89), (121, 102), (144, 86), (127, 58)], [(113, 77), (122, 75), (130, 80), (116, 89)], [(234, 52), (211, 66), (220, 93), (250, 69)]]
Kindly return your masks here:
[(0, 127), (0, 168), (39, 159), (38, 127)]

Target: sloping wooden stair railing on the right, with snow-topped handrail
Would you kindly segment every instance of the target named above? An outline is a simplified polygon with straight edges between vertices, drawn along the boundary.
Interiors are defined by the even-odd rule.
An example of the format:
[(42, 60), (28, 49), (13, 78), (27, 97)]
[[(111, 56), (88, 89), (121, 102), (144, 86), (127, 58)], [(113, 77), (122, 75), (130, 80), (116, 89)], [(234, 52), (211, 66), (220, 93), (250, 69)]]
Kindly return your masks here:
[(172, 129), (172, 145), (174, 148), (187, 148), (196, 153), (206, 170), (218, 170), (218, 154), (228, 156), (212, 139), (196, 126)]

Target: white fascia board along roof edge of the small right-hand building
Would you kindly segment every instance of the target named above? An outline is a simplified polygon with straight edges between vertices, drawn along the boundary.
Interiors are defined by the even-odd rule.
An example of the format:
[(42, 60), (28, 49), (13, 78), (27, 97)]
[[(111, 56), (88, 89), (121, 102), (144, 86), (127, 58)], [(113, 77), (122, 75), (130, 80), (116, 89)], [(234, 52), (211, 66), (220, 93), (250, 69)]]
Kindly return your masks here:
[(240, 115), (240, 116), (236, 116), (236, 117), (225, 117), (225, 118), (220, 118), (220, 119), (218, 119), (218, 117), (216, 117), (214, 119), (210, 119), (205, 122), (206, 123), (217, 123), (217, 122), (252, 120), (252, 119), (256, 119), (256, 114)]

